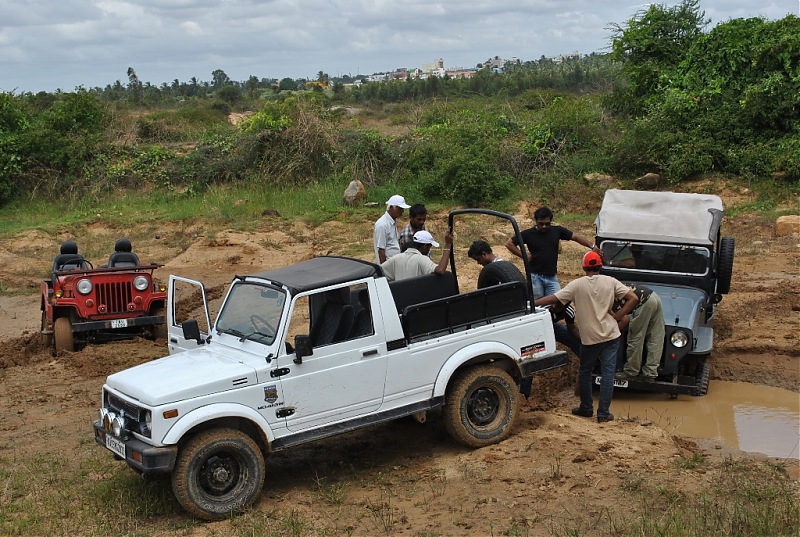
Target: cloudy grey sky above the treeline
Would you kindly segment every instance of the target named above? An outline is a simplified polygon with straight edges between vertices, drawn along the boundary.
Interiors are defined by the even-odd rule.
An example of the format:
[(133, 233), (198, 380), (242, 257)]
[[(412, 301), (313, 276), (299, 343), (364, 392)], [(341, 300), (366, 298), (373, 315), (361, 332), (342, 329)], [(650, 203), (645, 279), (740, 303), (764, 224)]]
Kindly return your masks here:
[[(680, 2), (657, 2), (674, 6)], [(316, 79), (444, 60), (609, 52), (625, 0), (0, 0), (0, 91), (74, 91), (139, 80)], [(798, 15), (798, 0), (700, 0), (708, 28)]]

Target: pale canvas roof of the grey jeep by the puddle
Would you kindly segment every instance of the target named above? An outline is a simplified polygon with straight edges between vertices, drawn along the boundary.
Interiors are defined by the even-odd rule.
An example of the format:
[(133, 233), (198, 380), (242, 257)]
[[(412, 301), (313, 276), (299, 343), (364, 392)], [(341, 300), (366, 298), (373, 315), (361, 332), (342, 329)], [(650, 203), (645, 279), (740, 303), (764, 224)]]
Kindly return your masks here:
[(719, 196), (610, 189), (594, 224), (598, 238), (709, 246), (721, 222)]

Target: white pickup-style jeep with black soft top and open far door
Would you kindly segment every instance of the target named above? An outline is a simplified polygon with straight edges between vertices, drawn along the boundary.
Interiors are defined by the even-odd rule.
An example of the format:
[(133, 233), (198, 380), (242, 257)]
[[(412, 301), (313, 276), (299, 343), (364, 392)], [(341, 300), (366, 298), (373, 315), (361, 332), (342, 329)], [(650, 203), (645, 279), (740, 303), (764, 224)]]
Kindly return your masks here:
[(207, 520), (255, 501), (264, 458), (297, 444), (433, 409), (462, 444), (500, 442), (519, 383), (567, 364), (529, 279), (459, 293), (455, 267), (389, 282), (379, 265), (318, 257), (234, 277), (213, 324), (201, 283), (173, 275), (168, 291), (171, 355), (108, 377), (95, 439), (171, 473)]

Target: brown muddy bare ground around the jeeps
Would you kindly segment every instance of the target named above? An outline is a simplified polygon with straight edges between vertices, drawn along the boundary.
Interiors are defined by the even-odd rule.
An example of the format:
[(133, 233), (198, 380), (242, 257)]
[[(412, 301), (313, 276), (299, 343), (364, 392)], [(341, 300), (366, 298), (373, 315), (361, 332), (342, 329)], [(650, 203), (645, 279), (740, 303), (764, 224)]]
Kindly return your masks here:
[[(709, 185), (697, 188), (708, 190)], [(726, 207), (753, 200), (746, 190), (716, 191)], [(797, 200), (788, 203), (797, 207)], [(234, 274), (315, 255), (370, 259), (372, 221), (380, 211), (314, 228), (279, 217), (265, 217), (258, 229), (246, 233), (211, 232), (201, 222), (173, 223), (156, 231), (93, 224), (65, 228), (58, 236), (31, 230), (0, 241), (0, 460), (58, 449), (54, 427), (61, 449), (109, 457), (93, 444), (90, 427), (105, 376), (166, 353), (165, 341), (144, 339), (91, 345), (55, 357), (43, 348), (38, 282), (62, 240), (72, 238), (82, 251), (95, 245), (94, 251), (102, 252), (102, 245), (110, 251), (120, 236), (139, 237), (135, 251), (143, 261), (164, 265), (157, 272), (162, 279), (179, 274), (221, 290)], [(531, 224), (526, 205), (516, 216), (522, 226)], [(593, 235), (590, 222), (556, 220)], [(446, 214), (429, 219), (434, 236), (441, 237), (445, 226)], [(800, 237), (776, 237), (773, 222), (746, 213), (726, 217), (723, 232), (735, 238), (736, 257), (731, 293), (718, 310), (710, 389), (714, 379), (723, 379), (800, 393)], [(463, 255), (474, 233), (509, 257), (501, 246), (502, 232), (457, 228), (463, 281), (477, 277), (478, 267)], [(582, 252), (574, 243), (564, 244), (562, 283), (580, 275)], [(106, 258), (107, 253), (98, 254), (92, 261), (99, 265)], [(722, 471), (724, 457), (752, 456), (713, 441), (674, 436), (661, 424), (636, 416), (606, 424), (573, 417), (574, 373), (573, 360), (568, 370), (537, 378), (535, 395), (523, 404), (514, 434), (499, 445), (465, 449), (446, 435), (433, 414), (425, 424), (401, 420), (281, 452), (268, 459), (267, 484), (247, 516), (269, 519), (291, 508), (291, 516), (306, 524), (302, 535), (546, 535), (559, 528), (605, 533), (600, 531), (603, 514), (631, 501), (625, 484), (633, 477), (653, 487), (680, 479), (682, 490), (691, 491)], [(706, 457), (702, 471), (677, 465), (695, 454)], [(797, 479), (796, 463), (788, 461), (787, 467)], [(67, 465), (63, 471), (77, 468)], [(162, 535), (225, 535), (236, 524), (195, 524), (177, 531), (169, 529), (174, 520), (173, 526), (149, 523), (156, 528), (152, 532)], [(514, 533), (515, 528), (524, 531)], [(95, 533), (91, 526), (86, 531)]]

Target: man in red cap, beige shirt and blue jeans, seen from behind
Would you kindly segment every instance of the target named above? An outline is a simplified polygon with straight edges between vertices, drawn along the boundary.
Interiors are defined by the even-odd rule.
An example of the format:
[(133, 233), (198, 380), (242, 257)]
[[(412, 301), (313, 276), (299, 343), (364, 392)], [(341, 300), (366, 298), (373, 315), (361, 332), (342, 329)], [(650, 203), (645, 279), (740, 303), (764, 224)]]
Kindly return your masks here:
[[(572, 280), (554, 294), (536, 299), (536, 306), (572, 302), (575, 304), (575, 324), (581, 336), (581, 365), (578, 386), (581, 404), (572, 409), (576, 416), (591, 418), (594, 415), (592, 399), (592, 369), (600, 361), (600, 400), (597, 403), (597, 421), (611, 421), (611, 397), (614, 395), (614, 370), (617, 365), (620, 331), (618, 324), (633, 310), (639, 299), (631, 289), (616, 278), (600, 274), (603, 259), (597, 252), (583, 256), (586, 273)], [(615, 300), (625, 300), (618, 311), (611, 313)]]

